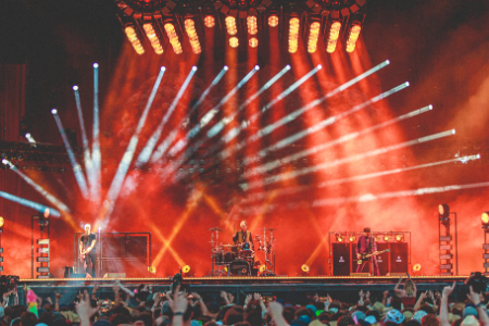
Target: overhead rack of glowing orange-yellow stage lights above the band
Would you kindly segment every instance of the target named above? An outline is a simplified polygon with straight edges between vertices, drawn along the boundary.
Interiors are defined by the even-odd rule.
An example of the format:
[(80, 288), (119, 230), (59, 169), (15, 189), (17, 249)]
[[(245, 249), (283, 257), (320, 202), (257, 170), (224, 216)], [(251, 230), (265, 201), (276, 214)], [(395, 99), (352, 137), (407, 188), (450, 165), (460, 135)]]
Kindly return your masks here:
[(266, 33), (278, 29), (286, 48), (296, 53), (303, 41), (308, 52), (328, 53), (341, 43), (353, 52), (366, 15), (366, 0), (114, 0), (117, 17), (138, 54), (152, 49), (200, 54), (214, 34), (231, 48), (260, 48)]

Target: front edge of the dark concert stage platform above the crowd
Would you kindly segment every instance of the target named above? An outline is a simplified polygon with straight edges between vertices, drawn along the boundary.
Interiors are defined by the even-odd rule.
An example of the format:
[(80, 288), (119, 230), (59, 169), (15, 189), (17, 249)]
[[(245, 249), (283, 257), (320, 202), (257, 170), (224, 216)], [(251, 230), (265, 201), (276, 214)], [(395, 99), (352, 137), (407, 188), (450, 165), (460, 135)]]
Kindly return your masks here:
[[(464, 296), (465, 287), (462, 285), (468, 276), (412, 276), (418, 291), (439, 290), (456, 281), (456, 296)], [(101, 299), (111, 298), (112, 286), (115, 278), (51, 278), (51, 279), (21, 279), (22, 285), (27, 285), (41, 298), (53, 297), (54, 291), (61, 291), (63, 299), (61, 303), (70, 303), (79, 290), (91, 291), (93, 285), (99, 286)], [(349, 301), (356, 298), (360, 290), (371, 291), (374, 298), (379, 298), (384, 291), (392, 290), (399, 276), (294, 276), (294, 277), (188, 277), (184, 284), (190, 291), (199, 292), (204, 298), (218, 297), (221, 291), (234, 293), (236, 302), (241, 303), (246, 294), (260, 292), (262, 296), (276, 296), (278, 298), (301, 300), (306, 294), (329, 293), (334, 299)], [(139, 284), (152, 286), (153, 291), (166, 291), (172, 285), (170, 277), (166, 278), (121, 278), (125, 286), (136, 287)], [(23, 297), (23, 296), (20, 296)]]

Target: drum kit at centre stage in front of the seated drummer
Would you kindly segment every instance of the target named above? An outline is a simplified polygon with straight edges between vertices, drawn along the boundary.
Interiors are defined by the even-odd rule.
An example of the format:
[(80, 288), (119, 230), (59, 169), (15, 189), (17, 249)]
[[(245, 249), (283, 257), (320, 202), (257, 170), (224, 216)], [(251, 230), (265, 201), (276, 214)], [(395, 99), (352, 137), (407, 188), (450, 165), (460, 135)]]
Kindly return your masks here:
[[(274, 229), (263, 228), (263, 237), (255, 236), (258, 250), (253, 242), (241, 242), (237, 244), (223, 244), (220, 242), (218, 227), (210, 228), (212, 244), (212, 276), (275, 276), (275, 242)], [(268, 237), (266, 237), (268, 231)], [(264, 252), (264, 264), (255, 253)]]

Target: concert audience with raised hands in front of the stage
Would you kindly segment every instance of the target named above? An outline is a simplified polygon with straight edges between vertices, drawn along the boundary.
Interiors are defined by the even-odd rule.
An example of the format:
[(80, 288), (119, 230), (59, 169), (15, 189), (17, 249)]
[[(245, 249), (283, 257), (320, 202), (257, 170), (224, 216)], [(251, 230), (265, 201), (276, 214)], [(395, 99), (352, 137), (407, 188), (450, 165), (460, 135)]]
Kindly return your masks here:
[(350, 303), (316, 293), (299, 305), (275, 297), (262, 300), (260, 293), (253, 293), (240, 305), (225, 291), (218, 300), (210, 297), (204, 302), (199, 293), (188, 293), (180, 286), (162, 293), (143, 285), (131, 291), (116, 281), (113, 296), (103, 293), (110, 300), (98, 300), (95, 286), (91, 294), (79, 292), (68, 305), (60, 305), (59, 292), (54, 303), (50, 298), (39, 299), (34, 312), (32, 306), (2, 304), (0, 326), (489, 326), (485, 298), (472, 287), (460, 302), (449, 298), (454, 283), (441, 292), (426, 291), (418, 298), (414, 291), (414, 298), (408, 301), (415, 304), (404, 305), (413, 291), (406, 294), (399, 285), (393, 296), (389, 291), (360, 291), (358, 298), (351, 298), (355, 302)]

